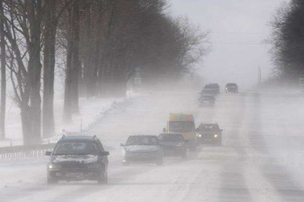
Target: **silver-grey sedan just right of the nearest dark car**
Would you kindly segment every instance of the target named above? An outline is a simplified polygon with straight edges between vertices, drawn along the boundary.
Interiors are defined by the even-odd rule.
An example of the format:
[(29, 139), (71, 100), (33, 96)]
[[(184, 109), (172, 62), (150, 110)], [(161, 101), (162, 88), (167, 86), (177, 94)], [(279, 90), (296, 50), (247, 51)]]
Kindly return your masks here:
[(121, 144), (123, 164), (149, 162), (163, 165), (163, 148), (156, 135), (131, 135), (126, 144)]

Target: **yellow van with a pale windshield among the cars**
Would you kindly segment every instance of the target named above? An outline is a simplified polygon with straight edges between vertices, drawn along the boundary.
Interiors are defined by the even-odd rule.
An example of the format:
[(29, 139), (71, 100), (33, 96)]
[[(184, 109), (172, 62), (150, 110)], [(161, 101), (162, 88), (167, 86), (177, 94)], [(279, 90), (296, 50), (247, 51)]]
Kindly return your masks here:
[(164, 128), (164, 133), (182, 134), (185, 140), (188, 141), (190, 150), (196, 150), (196, 134), (195, 123), (192, 114), (172, 113), (167, 122), (167, 129)]

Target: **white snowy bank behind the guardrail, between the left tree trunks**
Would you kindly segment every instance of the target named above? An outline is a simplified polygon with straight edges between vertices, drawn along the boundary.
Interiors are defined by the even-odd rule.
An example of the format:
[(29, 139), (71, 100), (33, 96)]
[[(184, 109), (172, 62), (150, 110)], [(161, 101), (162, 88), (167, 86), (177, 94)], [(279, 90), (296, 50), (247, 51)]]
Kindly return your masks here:
[[(71, 132), (80, 132), (81, 122), (83, 129), (87, 129), (90, 124), (96, 122), (101, 118), (104, 113), (109, 111), (109, 109), (116, 106), (117, 103), (122, 103), (130, 101), (140, 94), (133, 91), (127, 93), (127, 98), (98, 98), (92, 97), (89, 99), (80, 98), (79, 106), (80, 113), (73, 115), (73, 121), (71, 124), (64, 124), (62, 121), (63, 113), (63, 99), (60, 96), (56, 96), (54, 100), (54, 119), (55, 119), (55, 130), (56, 135), (51, 138), (51, 141), (56, 141), (58, 136), (61, 136), (62, 130)], [(20, 120), (20, 109), (18, 106), (8, 99), (6, 111), (6, 139), (0, 141), (0, 147), (22, 144), (22, 129)], [(48, 141), (45, 139), (44, 141)]]

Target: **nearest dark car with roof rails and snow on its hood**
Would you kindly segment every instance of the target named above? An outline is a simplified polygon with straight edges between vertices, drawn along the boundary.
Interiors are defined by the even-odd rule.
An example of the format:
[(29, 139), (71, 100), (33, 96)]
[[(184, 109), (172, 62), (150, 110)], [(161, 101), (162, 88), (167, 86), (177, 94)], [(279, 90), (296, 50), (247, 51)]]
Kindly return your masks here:
[(97, 180), (108, 182), (109, 152), (96, 136), (63, 136), (58, 140), (47, 164), (47, 183), (58, 180)]

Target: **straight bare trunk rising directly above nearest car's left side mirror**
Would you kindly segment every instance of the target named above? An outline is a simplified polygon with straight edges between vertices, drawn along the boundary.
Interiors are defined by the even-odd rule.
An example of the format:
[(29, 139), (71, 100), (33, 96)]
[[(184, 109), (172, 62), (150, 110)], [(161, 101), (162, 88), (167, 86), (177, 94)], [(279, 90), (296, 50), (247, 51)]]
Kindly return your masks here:
[(54, 123), (54, 67), (56, 37), (56, 0), (46, 1), (45, 35), (43, 49), (43, 137), (55, 133)]

